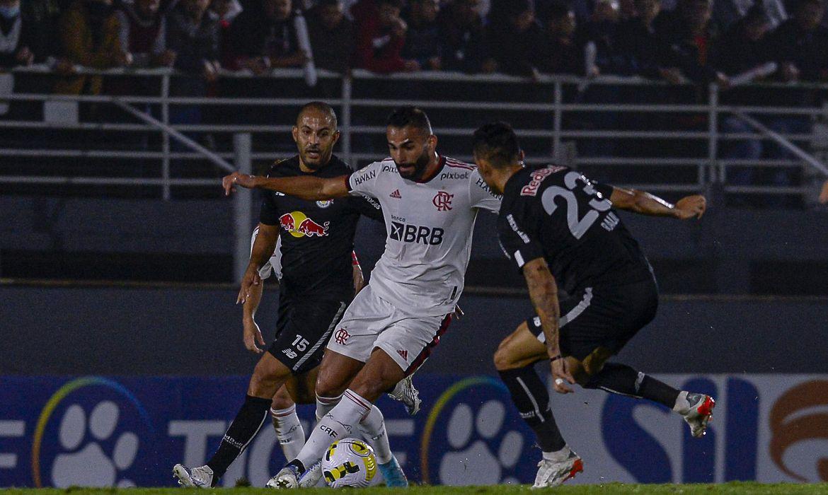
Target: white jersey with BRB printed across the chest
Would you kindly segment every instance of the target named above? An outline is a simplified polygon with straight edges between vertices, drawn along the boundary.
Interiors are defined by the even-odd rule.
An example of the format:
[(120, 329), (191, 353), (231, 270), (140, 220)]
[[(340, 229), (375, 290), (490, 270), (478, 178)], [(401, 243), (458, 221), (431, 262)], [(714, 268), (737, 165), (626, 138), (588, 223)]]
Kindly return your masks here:
[(421, 183), (403, 179), (386, 158), (351, 174), (348, 188), (383, 207), (388, 238), (371, 272), (373, 293), (412, 315), (453, 311), (463, 292), (478, 210), (500, 209), (500, 196), (477, 167), (441, 156), (440, 171)]

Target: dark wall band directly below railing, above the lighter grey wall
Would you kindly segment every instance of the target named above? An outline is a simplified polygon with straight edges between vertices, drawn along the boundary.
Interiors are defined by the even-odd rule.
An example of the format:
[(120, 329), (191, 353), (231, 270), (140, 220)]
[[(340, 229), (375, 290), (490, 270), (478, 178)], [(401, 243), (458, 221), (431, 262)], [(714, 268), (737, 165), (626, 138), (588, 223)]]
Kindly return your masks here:
[[(253, 198), (258, 205), (258, 195)], [(14, 212), (0, 216), (0, 281), (191, 283), (237, 275), (233, 208), (226, 200), (0, 195), (0, 211)], [(620, 216), (650, 257), (664, 293), (828, 296), (825, 211), (714, 208), (689, 222)], [(253, 217), (258, 220), (258, 211)], [(498, 247), (495, 219), (478, 215), (466, 283), (525, 286)], [(383, 238), (380, 223), (359, 223), (355, 242), (365, 272), (382, 254)]]

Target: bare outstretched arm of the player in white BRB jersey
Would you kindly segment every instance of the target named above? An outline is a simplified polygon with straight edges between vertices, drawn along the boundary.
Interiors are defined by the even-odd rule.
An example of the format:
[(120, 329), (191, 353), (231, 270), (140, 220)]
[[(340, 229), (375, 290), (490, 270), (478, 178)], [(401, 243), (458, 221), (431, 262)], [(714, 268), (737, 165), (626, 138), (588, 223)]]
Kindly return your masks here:
[(236, 186), (245, 189), (275, 190), (286, 195), (296, 196), (301, 199), (332, 199), (348, 195), (348, 175), (339, 177), (322, 178), (312, 175), (303, 177), (261, 177), (248, 175), (241, 172), (233, 172), (224, 175), (221, 185), (224, 187), (224, 195), (230, 195)]

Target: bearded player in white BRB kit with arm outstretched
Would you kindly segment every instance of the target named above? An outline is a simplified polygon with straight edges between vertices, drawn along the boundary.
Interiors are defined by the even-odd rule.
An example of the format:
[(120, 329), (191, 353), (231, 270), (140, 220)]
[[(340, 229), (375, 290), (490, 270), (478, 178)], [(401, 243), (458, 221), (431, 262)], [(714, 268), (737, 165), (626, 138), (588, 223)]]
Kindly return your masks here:
[[(391, 157), (351, 175), (266, 178), (234, 172), (234, 185), (278, 190), (303, 199), (367, 195), (383, 207), (388, 238), (368, 286), (354, 298), (322, 359), (316, 393), (343, 400), (317, 417), (304, 448), (267, 486), (313, 486), (331, 442), (361, 421), (382, 421), (373, 401), (419, 368), (440, 342), (463, 291), (474, 220), (497, 212), (476, 167), (440, 156), (426, 113), (402, 107), (388, 118)], [(402, 470), (398, 473), (402, 475)]]

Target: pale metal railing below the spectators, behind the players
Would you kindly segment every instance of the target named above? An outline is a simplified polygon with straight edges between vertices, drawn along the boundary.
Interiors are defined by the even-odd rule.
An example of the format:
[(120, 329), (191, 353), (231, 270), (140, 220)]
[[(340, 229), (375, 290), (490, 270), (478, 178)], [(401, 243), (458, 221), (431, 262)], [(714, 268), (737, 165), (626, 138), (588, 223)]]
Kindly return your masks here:
[[(44, 73), (42, 69), (15, 70), (13, 74), (24, 76)], [(81, 70), (81, 74), (104, 75), (110, 78), (134, 77), (150, 78), (159, 81), (157, 96), (71, 96), (59, 94), (28, 93), (25, 88), (0, 95), (0, 101), (34, 102), (50, 105), (63, 103), (75, 106), (87, 104), (111, 104), (122, 108), (132, 115), (128, 122), (89, 122), (70, 118), (47, 121), (45, 119), (0, 119), (0, 131), (31, 130), (37, 131), (76, 131), (113, 133), (117, 136), (128, 134), (151, 135), (160, 137), (154, 147), (135, 147), (134, 149), (107, 149), (84, 146), (42, 147), (17, 145), (0, 148), (0, 157), (35, 158), (85, 158), (89, 160), (142, 160), (160, 161), (160, 173), (157, 178), (134, 176), (83, 176), (83, 175), (31, 175), (26, 173), (26, 163), (16, 173), (0, 171), (0, 183), (6, 184), (97, 184), (97, 185), (160, 185), (161, 197), (171, 198), (171, 190), (179, 186), (215, 186), (216, 177), (176, 177), (171, 171), (173, 161), (212, 161), (220, 169), (227, 170), (228, 161), (233, 161), (236, 151), (232, 147), (218, 147), (211, 150), (195, 142), (192, 135), (209, 133), (211, 135), (253, 136), (250, 158), (253, 161), (272, 161), (293, 154), (291, 143), (285, 146), (267, 146), (274, 136), (287, 136), (291, 129), (291, 120), (297, 107), (310, 98), (324, 98), (339, 110), (339, 127), (342, 137), (339, 154), (353, 166), (361, 162), (373, 161), (384, 156), (382, 145), (371, 144), (384, 133), (382, 115), (390, 108), (402, 104), (413, 104), (428, 110), (432, 115), (438, 137), (448, 144), (441, 144), (440, 150), (461, 160), (471, 159), (469, 149), (462, 143), (474, 129), (488, 120), (504, 119), (513, 123), (518, 135), (527, 148), (528, 161), (569, 161), (571, 165), (581, 168), (599, 168), (611, 173), (622, 170), (628, 179), (614, 180), (621, 185), (631, 185), (659, 191), (699, 191), (720, 186), (725, 192), (735, 194), (768, 195), (803, 195), (810, 185), (729, 185), (728, 171), (733, 167), (781, 167), (797, 169), (811, 167), (818, 174), (828, 175), (828, 169), (811, 153), (804, 151), (795, 142), (810, 141), (811, 133), (777, 133), (768, 132), (767, 128), (752, 125), (753, 132), (720, 132), (723, 118), (736, 116), (754, 120), (750, 115), (797, 115), (816, 120), (826, 117), (826, 110), (821, 107), (741, 107), (720, 103), (721, 90), (710, 84), (706, 95), (691, 103), (641, 103), (623, 101), (590, 100), (590, 91), (614, 89), (653, 89), (667, 92), (676, 89), (674, 85), (638, 78), (620, 78), (603, 76), (598, 79), (585, 79), (569, 76), (542, 76), (535, 82), (527, 79), (502, 75), (467, 75), (454, 73), (392, 74), (379, 76), (363, 70), (354, 70), (351, 77), (320, 71), (320, 85), (329, 90), (324, 96), (309, 90), (306, 95), (285, 98), (257, 96), (218, 96), (195, 97), (173, 96), (171, 89), (178, 76), (170, 70)], [(301, 70), (278, 70), (269, 76), (272, 83), (290, 85), (300, 88), (304, 85)], [(235, 84), (247, 84), (246, 81), (262, 82), (250, 74), (223, 74), (224, 81)], [(251, 83), (252, 84), (252, 83)], [(763, 84), (763, 87), (788, 90), (790, 85)], [(506, 97), (503, 94), (488, 94), (497, 89), (509, 88)], [(684, 86), (690, 90), (691, 86)], [(799, 89), (826, 89), (828, 86), (801, 84)], [(331, 93), (332, 91), (332, 93)], [(439, 98), (435, 97), (436, 93)], [(275, 89), (271, 94), (279, 94)], [(393, 98), (383, 98), (381, 94), (392, 94)], [(609, 100), (612, 100), (610, 98)], [(600, 100), (600, 98), (598, 98)], [(620, 99), (619, 99), (620, 100)], [(701, 103), (699, 103), (701, 102)], [(212, 108), (215, 113), (227, 115), (246, 115), (262, 113), (262, 109), (281, 113), (279, 123), (227, 123), (226, 120), (213, 118), (209, 123), (175, 123), (171, 118), (174, 108), (197, 106), (201, 109)], [(150, 109), (150, 111), (147, 111)], [(77, 110), (75, 109), (75, 112)], [(619, 122), (614, 127), (600, 128), (602, 118), (608, 114)], [(439, 116), (437, 116), (439, 115)], [(628, 128), (624, 122), (634, 120), (642, 115), (642, 121), (654, 120), (667, 123), (667, 128)], [(671, 126), (673, 116), (696, 118), (691, 126)], [(739, 117), (741, 116), (741, 117)], [(621, 119), (621, 120), (619, 120)], [(244, 120), (237, 118), (236, 120)], [(448, 127), (446, 127), (448, 126)], [(4, 132), (5, 133), (5, 132)], [(265, 136), (262, 136), (264, 134)], [(746, 160), (742, 158), (725, 160), (720, 157), (720, 150), (730, 142), (739, 140), (771, 139), (779, 146), (792, 151), (796, 158)], [(380, 138), (381, 141), (382, 138)], [(116, 140), (117, 141), (117, 140)], [(227, 140), (229, 141), (229, 140)], [(184, 143), (190, 151), (180, 151), (174, 142)], [(579, 148), (573, 152), (571, 143)], [(589, 152), (592, 144), (600, 144), (603, 150)], [(632, 144), (631, 144), (632, 143)], [(654, 144), (653, 144), (654, 143)], [(681, 143), (691, 151), (676, 154), (673, 144)], [(50, 142), (50, 145), (54, 145)], [(652, 156), (636, 153), (615, 153), (616, 147), (623, 145), (629, 151), (631, 147), (648, 147), (648, 151), (657, 151)], [(600, 148), (601, 146), (599, 146)], [(259, 151), (256, 151), (259, 150)], [(607, 151), (609, 150), (609, 151)], [(224, 165), (223, 165), (224, 164)], [(638, 173), (637, 171), (640, 171)], [(648, 172), (654, 171), (654, 172)], [(629, 172), (629, 173), (628, 173)]]

